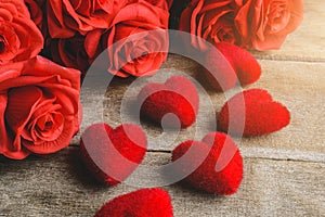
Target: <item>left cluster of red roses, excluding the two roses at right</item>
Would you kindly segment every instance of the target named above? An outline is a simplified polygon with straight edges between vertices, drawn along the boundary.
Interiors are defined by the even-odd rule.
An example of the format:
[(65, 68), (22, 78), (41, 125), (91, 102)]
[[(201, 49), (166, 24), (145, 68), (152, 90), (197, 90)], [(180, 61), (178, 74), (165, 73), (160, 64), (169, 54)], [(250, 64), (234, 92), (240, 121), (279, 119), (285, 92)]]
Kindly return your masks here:
[[(0, 154), (20, 159), (67, 146), (81, 122), (81, 74), (116, 41), (167, 29), (168, 9), (165, 0), (0, 0)], [(107, 71), (150, 75), (167, 53), (143, 55), (116, 72), (119, 54), (160, 46), (168, 46), (166, 35), (126, 40), (108, 53)]]

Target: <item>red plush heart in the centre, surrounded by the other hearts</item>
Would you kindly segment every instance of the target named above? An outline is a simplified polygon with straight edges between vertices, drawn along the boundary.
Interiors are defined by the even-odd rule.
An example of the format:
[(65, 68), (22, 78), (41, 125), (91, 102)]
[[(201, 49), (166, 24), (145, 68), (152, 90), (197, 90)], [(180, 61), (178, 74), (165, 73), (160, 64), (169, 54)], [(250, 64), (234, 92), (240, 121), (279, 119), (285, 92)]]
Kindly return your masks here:
[[(165, 84), (152, 82), (143, 87), (138, 95), (141, 114), (160, 123), (161, 118), (172, 113), (178, 116), (182, 128), (191, 126), (198, 112), (196, 87), (183, 76), (172, 76)], [(178, 126), (174, 118), (167, 118), (170, 127)]]

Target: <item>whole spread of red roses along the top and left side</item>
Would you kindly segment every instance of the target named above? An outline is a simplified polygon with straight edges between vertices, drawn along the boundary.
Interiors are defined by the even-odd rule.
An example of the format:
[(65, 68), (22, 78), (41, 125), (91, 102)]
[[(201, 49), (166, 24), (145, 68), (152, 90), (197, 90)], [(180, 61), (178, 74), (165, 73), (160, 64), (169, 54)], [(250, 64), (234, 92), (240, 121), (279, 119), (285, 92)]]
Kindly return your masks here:
[(0, 0), (0, 154), (67, 146), (81, 122), (81, 77), (102, 52), (108, 73), (150, 76), (167, 59), (155, 51), (168, 51), (169, 26), (196, 36), (199, 51), (197, 38), (278, 49), (302, 11), (302, 0)]

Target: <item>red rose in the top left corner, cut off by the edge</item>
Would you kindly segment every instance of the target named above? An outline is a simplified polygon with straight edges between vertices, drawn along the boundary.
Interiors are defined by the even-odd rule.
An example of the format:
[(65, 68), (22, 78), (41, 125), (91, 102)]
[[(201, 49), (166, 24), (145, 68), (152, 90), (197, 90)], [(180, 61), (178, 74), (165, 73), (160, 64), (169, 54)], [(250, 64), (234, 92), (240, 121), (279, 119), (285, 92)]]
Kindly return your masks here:
[(36, 56), (43, 37), (24, 0), (0, 0), (0, 65)]

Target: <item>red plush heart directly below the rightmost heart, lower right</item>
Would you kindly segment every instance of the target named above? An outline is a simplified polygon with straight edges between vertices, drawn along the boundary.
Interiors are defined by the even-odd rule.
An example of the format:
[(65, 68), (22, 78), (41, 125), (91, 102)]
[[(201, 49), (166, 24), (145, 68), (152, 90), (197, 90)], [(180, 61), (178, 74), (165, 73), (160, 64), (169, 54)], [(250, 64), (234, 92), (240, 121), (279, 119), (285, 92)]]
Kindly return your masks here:
[[(176, 173), (188, 175), (184, 178), (185, 182), (209, 193), (233, 194), (243, 179), (239, 150), (222, 132), (210, 132), (202, 142), (181, 143), (172, 151), (172, 161)], [(193, 165), (197, 165), (196, 168)]]

